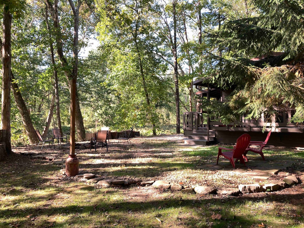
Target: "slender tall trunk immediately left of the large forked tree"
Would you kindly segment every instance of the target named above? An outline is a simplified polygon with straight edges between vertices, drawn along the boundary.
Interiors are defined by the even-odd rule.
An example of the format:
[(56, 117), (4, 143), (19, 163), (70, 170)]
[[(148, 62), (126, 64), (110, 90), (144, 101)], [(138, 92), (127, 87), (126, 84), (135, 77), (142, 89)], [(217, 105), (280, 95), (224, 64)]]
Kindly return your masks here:
[(60, 130), (60, 134), (63, 135), (62, 127), (61, 127), (61, 118), (60, 118), (60, 103), (59, 103), (59, 91), (58, 91), (58, 71), (55, 64), (55, 58), (54, 58), (54, 47), (53, 47), (53, 41), (51, 37), (51, 29), (49, 25), (48, 20), (48, 10), (47, 6), (45, 7), (45, 22), (47, 24), (47, 30), (49, 33), (49, 43), (50, 43), (50, 50), (51, 50), (51, 60), (53, 64), (53, 75), (54, 75), (54, 90), (55, 90), (55, 97), (56, 97), (56, 116), (57, 116), (57, 125)]

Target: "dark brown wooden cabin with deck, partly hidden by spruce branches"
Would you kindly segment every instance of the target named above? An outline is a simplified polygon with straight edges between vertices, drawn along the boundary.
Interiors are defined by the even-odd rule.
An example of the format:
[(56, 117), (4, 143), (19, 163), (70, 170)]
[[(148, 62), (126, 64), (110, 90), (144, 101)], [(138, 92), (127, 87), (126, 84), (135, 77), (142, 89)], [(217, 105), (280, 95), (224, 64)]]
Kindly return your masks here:
[[(259, 61), (267, 58), (281, 58), (282, 53), (272, 52), (270, 55), (251, 59)], [(282, 59), (282, 58), (281, 58)], [(206, 97), (207, 99), (217, 99), (224, 102), (225, 98), (230, 95), (232, 90), (222, 90), (216, 85), (205, 83), (204, 79), (193, 82), (198, 90), (197, 95)], [(188, 139), (184, 142), (187, 144), (209, 145), (212, 143), (235, 144), (237, 138), (244, 133), (251, 136), (251, 141), (264, 141), (267, 132), (272, 130), (268, 146), (304, 148), (304, 124), (290, 123), (291, 117), (295, 110), (290, 108), (277, 116), (272, 116), (271, 122), (266, 122), (267, 118), (262, 115), (259, 119), (245, 119), (246, 115), (240, 116), (237, 123), (223, 125), (221, 122), (214, 122), (209, 118), (203, 118), (204, 111), (201, 107), (200, 112), (184, 112), (183, 113), (183, 130), (184, 135)], [(207, 113), (208, 114), (208, 113)], [(263, 127), (266, 126), (263, 133)]]

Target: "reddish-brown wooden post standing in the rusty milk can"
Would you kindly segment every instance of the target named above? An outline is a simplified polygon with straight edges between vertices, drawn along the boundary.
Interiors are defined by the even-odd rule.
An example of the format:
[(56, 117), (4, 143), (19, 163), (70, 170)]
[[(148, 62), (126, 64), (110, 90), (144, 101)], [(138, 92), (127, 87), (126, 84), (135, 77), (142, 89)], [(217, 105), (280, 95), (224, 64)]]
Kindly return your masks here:
[(75, 154), (76, 79), (71, 79), (70, 154)]

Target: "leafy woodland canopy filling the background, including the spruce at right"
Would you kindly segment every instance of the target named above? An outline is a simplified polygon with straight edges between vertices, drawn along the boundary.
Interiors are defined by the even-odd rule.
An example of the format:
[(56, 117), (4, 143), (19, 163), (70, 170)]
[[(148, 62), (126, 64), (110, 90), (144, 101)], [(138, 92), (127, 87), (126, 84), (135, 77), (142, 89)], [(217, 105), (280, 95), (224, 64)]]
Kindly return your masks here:
[[(226, 102), (203, 100), (223, 123), (289, 107), (296, 109), (292, 121), (304, 120), (301, 1), (1, 4), (12, 10), (14, 143), (27, 142), (29, 121), (35, 129), (50, 123), (69, 131), (71, 78), (77, 80), (78, 139), (100, 126), (147, 128), (147, 134), (173, 129), (177, 114), (200, 108), (198, 78), (233, 89)], [(90, 47), (92, 40), (99, 45)], [(250, 60), (270, 51), (284, 53), (280, 64)], [(56, 115), (47, 118), (54, 96)]]

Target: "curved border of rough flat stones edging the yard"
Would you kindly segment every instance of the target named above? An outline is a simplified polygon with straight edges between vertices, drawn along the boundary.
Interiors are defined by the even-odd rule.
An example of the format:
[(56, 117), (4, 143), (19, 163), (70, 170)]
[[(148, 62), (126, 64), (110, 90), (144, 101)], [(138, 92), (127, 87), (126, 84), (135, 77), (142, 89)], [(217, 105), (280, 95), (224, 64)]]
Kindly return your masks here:
[[(41, 158), (45, 160), (49, 160), (53, 162), (54, 164), (62, 164), (62, 167), (60, 169), (60, 173), (62, 175), (65, 174), (65, 161), (62, 159), (58, 159), (55, 156), (52, 156), (50, 154), (36, 154), (33, 152), (20, 152), (20, 154), (31, 156), (33, 158)], [(239, 185), (238, 188), (223, 188), (223, 189), (217, 189), (216, 187), (210, 187), (210, 186), (195, 186), (194, 188), (190, 188), (188, 186), (181, 185), (176, 182), (168, 182), (168, 181), (162, 181), (162, 180), (145, 180), (142, 181), (139, 178), (133, 178), (133, 179), (111, 179), (111, 178), (96, 178), (95, 174), (92, 173), (86, 173), (86, 174), (78, 174), (75, 176), (76, 178), (81, 178), (81, 181), (86, 181), (87, 183), (93, 183), (96, 185), (100, 185), (102, 188), (108, 188), (108, 187), (116, 187), (116, 186), (150, 186), (158, 189), (171, 189), (173, 191), (181, 191), (184, 193), (197, 193), (197, 194), (219, 194), (219, 195), (232, 195), (237, 196), (240, 193), (256, 193), (256, 192), (274, 192), (281, 190), (283, 188), (286, 188), (288, 186), (299, 184), (300, 181), (304, 181), (304, 175), (301, 175), (299, 177), (296, 177), (295, 175), (288, 175), (285, 178), (282, 179), (282, 181), (274, 181), (269, 182), (263, 186), (256, 184), (249, 184), (249, 185)]]

